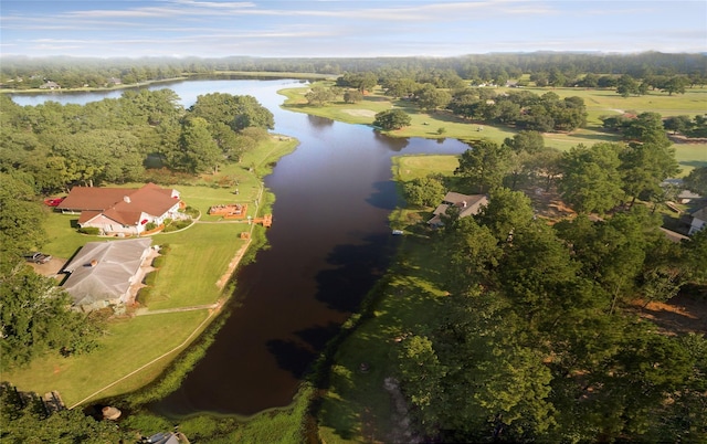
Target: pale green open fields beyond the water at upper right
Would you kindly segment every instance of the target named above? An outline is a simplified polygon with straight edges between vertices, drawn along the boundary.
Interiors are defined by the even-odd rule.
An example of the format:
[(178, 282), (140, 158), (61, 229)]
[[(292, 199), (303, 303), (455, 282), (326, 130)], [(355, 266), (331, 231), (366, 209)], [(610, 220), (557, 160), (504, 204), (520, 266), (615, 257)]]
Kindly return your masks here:
[[(321, 83), (329, 86), (331, 83)], [(621, 97), (613, 89), (584, 88), (524, 88), (538, 95), (552, 92), (560, 97), (579, 96), (584, 99), (588, 110), (588, 126), (570, 134), (545, 134), (545, 145), (560, 150), (568, 150), (579, 144), (591, 146), (602, 141), (620, 141), (618, 134), (606, 133), (601, 128), (600, 117), (621, 114), (625, 110), (637, 113), (655, 112), (663, 117), (704, 114), (707, 109), (707, 88), (689, 88), (685, 94), (668, 96), (665, 93), (651, 92), (645, 96)], [(403, 109), (411, 117), (411, 125), (387, 134), (393, 137), (450, 137), (461, 140), (477, 140), (487, 138), (502, 144), (507, 137), (513, 137), (516, 130), (510, 127), (488, 125), (483, 121), (465, 120), (449, 113), (420, 113), (407, 101), (386, 97), (380, 87), (374, 88), (362, 102), (347, 104), (331, 103), (326, 106), (307, 105), (304, 95), (307, 87), (288, 88), (281, 93), (287, 97), (284, 107), (289, 110), (328, 117), (350, 124), (371, 125), (376, 113), (397, 107)], [(514, 91), (496, 88), (497, 93)], [(517, 91), (517, 89), (515, 89)], [(478, 130), (483, 127), (483, 130)], [(443, 135), (437, 134), (444, 128)], [(676, 158), (687, 175), (693, 168), (707, 166), (707, 144), (675, 144)]]

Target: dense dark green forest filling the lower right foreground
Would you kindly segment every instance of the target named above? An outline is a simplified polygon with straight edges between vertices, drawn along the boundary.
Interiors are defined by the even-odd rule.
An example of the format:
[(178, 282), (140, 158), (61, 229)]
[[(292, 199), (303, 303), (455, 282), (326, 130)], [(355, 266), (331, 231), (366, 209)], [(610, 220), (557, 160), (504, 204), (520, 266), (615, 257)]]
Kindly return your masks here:
[[(573, 149), (560, 169), (611, 150)], [(559, 182), (570, 193), (572, 176)], [(707, 232), (668, 241), (642, 204), (550, 225), (525, 193), (489, 194), (429, 245), (450, 296), (398, 350), (419, 429), (440, 442), (704, 442), (707, 341), (633, 307), (704, 293)]]

